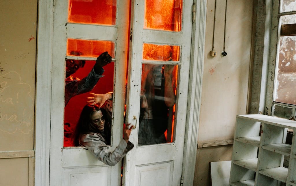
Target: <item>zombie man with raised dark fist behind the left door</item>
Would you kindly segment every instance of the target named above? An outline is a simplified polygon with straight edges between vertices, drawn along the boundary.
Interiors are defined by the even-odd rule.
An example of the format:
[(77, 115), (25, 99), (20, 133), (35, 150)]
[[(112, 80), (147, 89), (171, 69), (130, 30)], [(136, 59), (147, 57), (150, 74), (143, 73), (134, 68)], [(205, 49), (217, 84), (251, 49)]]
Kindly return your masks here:
[[(70, 54), (73, 56), (82, 55), (82, 53), (79, 51), (71, 51)], [(97, 57), (96, 63), (94, 64), (92, 70), (89, 72), (88, 76), (80, 80), (77, 77), (73, 77), (73, 74), (80, 68), (83, 68), (85, 61), (67, 59), (65, 79), (65, 106), (72, 97), (91, 91), (95, 87), (99, 79), (103, 77), (103, 66), (109, 64), (111, 61), (112, 57), (107, 51), (102, 53), (99, 57)]]

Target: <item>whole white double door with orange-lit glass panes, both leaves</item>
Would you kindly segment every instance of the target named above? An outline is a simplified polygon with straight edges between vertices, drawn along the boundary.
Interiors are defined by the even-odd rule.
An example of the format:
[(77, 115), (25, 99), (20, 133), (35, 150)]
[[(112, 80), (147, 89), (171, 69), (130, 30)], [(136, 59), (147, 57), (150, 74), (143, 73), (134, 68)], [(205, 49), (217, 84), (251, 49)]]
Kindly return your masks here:
[[(50, 185), (180, 184), (192, 3), (182, 0), (55, 1)], [(71, 51), (79, 51), (80, 55), (73, 55)], [(134, 148), (113, 167), (103, 164), (85, 148), (70, 143), (75, 117), (78, 118), (82, 110), (80, 105), (85, 105), (86, 97), (91, 95), (75, 96), (64, 105), (65, 60), (85, 60), (88, 66), (79, 71), (84, 70), (87, 75), (96, 57), (104, 51), (110, 53), (112, 63), (104, 67), (105, 76), (91, 92), (113, 92), (109, 150), (114, 150), (122, 139), (125, 121), (134, 126), (129, 140)], [(77, 71), (73, 77), (81, 75), (78, 77), (81, 79), (85, 76), (81, 73)], [(152, 74), (153, 80), (147, 80)], [(166, 92), (162, 80), (169, 78), (172, 97), (152, 94), (153, 99), (170, 98), (165, 100), (171, 101), (165, 108), (168, 110), (165, 131), (157, 135), (157, 138), (161, 136), (160, 140), (147, 142), (147, 138), (143, 139), (143, 121), (156, 118), (156, 114), (147, 109), (146, 114), (142, 114), (143, 108), (152, 107), (151, 92), (149, 94), (145, 85), (153, 82), (154, 91)], [(154, 113), (154, 117), (147, 113)]]

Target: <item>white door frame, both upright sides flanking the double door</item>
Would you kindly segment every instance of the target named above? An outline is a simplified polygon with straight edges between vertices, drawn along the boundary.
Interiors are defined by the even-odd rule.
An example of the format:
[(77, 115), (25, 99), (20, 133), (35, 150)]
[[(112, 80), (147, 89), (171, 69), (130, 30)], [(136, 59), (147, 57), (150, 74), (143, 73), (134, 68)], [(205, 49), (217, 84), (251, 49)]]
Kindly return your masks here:
[[(197, 152), (207, 0), (195, 0), (183, 184), (192, 185)], [(35, 112), (35, 185), (49, 185), (54, 0), (38, 1)], [(196, 21), (198, 22), (196, 23)]]

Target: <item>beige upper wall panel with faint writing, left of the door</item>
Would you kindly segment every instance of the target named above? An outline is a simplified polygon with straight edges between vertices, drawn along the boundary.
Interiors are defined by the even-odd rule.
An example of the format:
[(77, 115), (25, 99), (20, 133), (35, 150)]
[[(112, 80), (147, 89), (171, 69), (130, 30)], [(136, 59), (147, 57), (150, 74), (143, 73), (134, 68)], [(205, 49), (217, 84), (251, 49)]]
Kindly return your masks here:
[(37, 0), (0, 1), (0, 151), (32, 150)]

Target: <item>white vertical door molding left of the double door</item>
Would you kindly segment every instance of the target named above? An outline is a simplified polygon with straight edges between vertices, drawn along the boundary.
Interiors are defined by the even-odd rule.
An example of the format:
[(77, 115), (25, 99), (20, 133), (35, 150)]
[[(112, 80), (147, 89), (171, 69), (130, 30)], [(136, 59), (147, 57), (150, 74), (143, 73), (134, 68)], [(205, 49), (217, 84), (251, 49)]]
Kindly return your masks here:
[(35, 99), (35, 185), (49, 185), (53, 0), (38, 1)]

